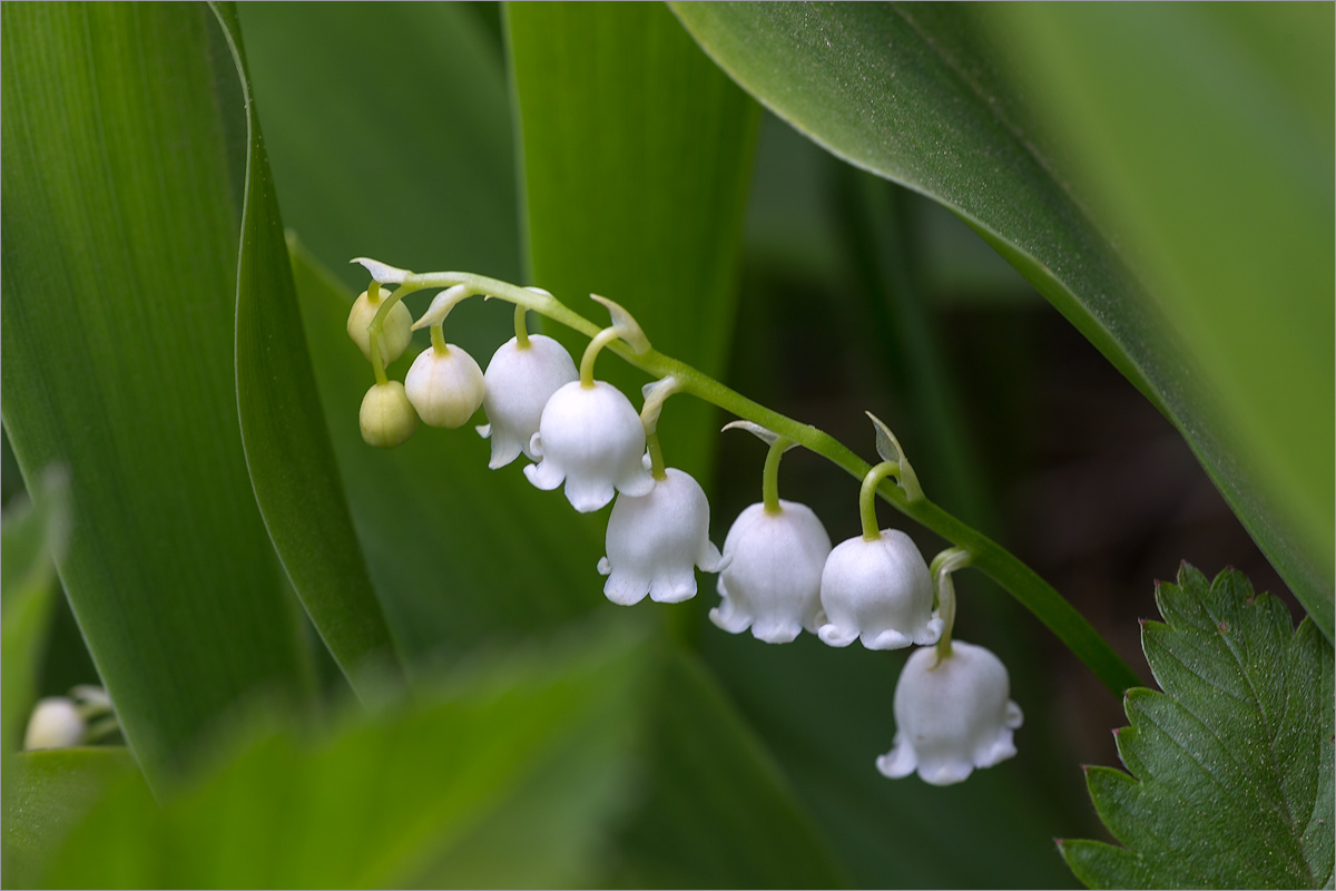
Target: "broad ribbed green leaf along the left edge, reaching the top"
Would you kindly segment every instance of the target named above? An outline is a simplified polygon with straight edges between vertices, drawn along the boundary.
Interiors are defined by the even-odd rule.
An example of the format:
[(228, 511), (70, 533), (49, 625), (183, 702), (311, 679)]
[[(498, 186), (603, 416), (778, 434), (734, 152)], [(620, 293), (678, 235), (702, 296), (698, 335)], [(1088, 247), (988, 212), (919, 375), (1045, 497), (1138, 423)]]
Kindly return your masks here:
[(69, 470), (60, 577), (155, 784), (309, 676), (236, 422), (215, 27), (90, 4), (7, 5), (0, 28), (5, 427), (25, 477)]

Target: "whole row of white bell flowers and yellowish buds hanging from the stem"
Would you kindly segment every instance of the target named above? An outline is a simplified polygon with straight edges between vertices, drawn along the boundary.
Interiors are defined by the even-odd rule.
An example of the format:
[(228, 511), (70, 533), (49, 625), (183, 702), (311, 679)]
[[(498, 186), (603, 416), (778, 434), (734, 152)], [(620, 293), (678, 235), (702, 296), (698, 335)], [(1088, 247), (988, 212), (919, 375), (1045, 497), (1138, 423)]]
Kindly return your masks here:
[[(593, 357), (604, 343), (639, 338), (648, 347), (633, 319), (601, 301), (615, 325), (595, 338), (577, 370), (560, 343), (528, 335), (521, 315), (516, 338), (497, 349), (482, 373), (440, 331), (449, 307), (468, 297), (461, 289), (442, 291), (417, 325), (402, 303), (381, 314), (382, 362), (402, 354), (411, 327), (432, 325), (433, 346), (413, 362), (406, 385), (386, 381), (383, 365), (378, 366), (379, 382), (361, 411), (369, 443), (398, 445), (418, 418), (458, 427), (482, 406), (488, 423), (477, 430), (492, 441), (490, 468), (506, 466), (522, 453), (534, 461), (524, 468), (528, 480), (544, 490), (565, 484), (568, 501), (581, 513), (600, 510), (616, 497), (607, 556), (597, 566), (608, 577), (609, 601), (689, 600), (696, 596), (699, 568), (719, 573), (720, 604), (709, 618), (729, 633), (749, 629), (762, 641), (787, 644), (807, 631), (831, 647), (856, 639), (874, 651), (938, 644), (915, 652), (900, 675), (894, 703), (898, 732), (894, 748), (876, 760), (880, 772), (899, 777), (916, 769), (929, 783), (949, 784), (1015, 753), (1011, 736), (1021, 711), (1009, 699), (1006, 668), (983, 648), (950, 641), (949, 576), (961, 562), (939, 572), (934, 612), (935, 580), (918, 548), (903, 532), (875, 528), (870, 493), (886, 473), (896, 473), (903, 484), (911, 473), (906, 462), (874, 469), (864, 484), (863, 536), (832, 549), (816, 514), (780, 500), (775, 490), (779, 456), (791, 443), (741, 423), (771, 442), (766, 498), (733, 521), (720, 553), (708, 537), (709, 502), (700, 485), (685, 472), (663, 466), (656, 439), (647, 454), (647, 433), (655, 437), (661, 398), (651, 406), (652, 387), (647, 389), (641, 415), (619, 389), (592, 377)], [(370, 293), (377, 294), (374, 285)], [(349, 317), (349, 334), (367, 357), (373, 347), (366, 329), (377, 307), (374, 297), (362, 294)]]

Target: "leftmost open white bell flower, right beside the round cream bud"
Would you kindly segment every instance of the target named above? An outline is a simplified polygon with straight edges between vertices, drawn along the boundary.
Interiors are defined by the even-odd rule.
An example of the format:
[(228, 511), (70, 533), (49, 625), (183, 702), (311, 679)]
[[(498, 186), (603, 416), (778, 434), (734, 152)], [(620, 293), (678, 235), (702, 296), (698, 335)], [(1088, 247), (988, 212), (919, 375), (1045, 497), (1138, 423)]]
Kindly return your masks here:
[(493, 470), (504, 468), (521, 452), (537, 461), (538, 456), (529, 449), (529, 442), (538, 431), (542, 407), (553, 393), (580, 378), (570, 354), (541, 334), (530, 334), (529, 345), (524, 347), (510, 338), (492, 355), (484, 377), (486, 391), (482, 407), (488, 413), (488, 423), (478, 427), (478, 434), (484, 439), (492, 438), (488, 466)]

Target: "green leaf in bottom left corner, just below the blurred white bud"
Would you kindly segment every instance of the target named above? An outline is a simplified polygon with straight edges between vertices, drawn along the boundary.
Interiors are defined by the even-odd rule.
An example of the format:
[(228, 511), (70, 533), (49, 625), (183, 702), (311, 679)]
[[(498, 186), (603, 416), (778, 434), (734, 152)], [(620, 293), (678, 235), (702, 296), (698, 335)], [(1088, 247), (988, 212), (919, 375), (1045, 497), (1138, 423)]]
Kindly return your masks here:
[[(110, 788), (151, 807), (148, 787), (119, 747), (13, 756), (4, 789), (4, 887), (36, 887), (47, 859)], [(102, 884), (98, 882), (98, 884)]]

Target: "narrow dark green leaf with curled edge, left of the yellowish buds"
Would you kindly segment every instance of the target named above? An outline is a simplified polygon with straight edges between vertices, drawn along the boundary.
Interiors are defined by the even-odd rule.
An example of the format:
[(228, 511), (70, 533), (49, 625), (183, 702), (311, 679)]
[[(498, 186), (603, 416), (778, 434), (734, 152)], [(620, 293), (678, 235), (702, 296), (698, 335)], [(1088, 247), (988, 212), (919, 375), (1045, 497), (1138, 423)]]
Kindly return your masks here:
[(236, 405), (255, 500), (330, 653), (361, 688), (367, 663), (401, 672), (353, 529), (306, 353), (297, 286), (232, 7), (216, 8), (244, 95), (246, 200), (236, 273)]

